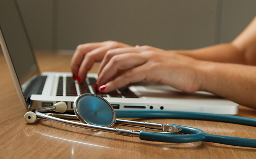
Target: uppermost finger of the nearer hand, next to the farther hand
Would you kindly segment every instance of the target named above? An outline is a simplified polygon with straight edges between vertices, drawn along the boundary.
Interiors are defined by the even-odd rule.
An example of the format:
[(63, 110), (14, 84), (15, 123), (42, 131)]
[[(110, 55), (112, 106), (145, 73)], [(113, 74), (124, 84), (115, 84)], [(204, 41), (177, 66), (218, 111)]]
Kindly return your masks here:
[(106, 55), (104, 56), (102, 62), (100, 63), (99, 69), (98, 69), (98, 75), (102, 71), (102, 69), (106, 66), (106, 64), (110, 61), (110, 59), (119, 54), (123, 53), (140, 53), (144, 51), (144, 48), (139, 49), (138, 47), (124, 47), (124, 48), (117, 48), (117, 49), (111, 49), (108, 50)]

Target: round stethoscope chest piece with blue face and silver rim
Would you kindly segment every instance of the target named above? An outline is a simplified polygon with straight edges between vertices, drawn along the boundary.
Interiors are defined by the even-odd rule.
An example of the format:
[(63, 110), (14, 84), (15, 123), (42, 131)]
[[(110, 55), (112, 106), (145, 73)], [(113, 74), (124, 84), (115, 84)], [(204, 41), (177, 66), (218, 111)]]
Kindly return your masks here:
[(89, 93), (79, 95), (74, 101), (73, 108), (77, 118), (85, 124), (104, 127), (112, 127), (115, 124), (114, 108), (98, 95)]

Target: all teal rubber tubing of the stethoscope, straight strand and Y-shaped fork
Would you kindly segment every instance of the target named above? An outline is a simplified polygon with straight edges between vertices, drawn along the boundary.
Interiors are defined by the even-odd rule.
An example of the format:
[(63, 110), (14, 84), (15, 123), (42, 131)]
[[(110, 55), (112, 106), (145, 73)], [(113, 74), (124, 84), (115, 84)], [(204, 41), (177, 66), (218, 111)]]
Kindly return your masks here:
[[(116, 111), (116, 116), (119, 118), (176, 118), (176, 119), (193, 119), (193, 120), (208, 120), (216, 122), (226, 122), (233, 124), (242, 124), (256, 126), (256, 119), (245, 118), (240, 116), (231, 116), (223, 114), (197, 113), (197, 112), (175, 112), (175, 111)], [(169, 143), (191, 143), (198, 141), (206, 141), (212, 143), (220, 143), (241, 147), (256, 148), (256, 139), (246, 139), (239, 137), (229, 137), (207, 134), (201, 129), (187, 127), (176, 124), (166, 124), (170, 126), (180, 127), (181, 133), (189, 135), (171, 135), (164, 133), (154, 133), (141, 131), (139, 138), (148, 141), (160, 141)]]

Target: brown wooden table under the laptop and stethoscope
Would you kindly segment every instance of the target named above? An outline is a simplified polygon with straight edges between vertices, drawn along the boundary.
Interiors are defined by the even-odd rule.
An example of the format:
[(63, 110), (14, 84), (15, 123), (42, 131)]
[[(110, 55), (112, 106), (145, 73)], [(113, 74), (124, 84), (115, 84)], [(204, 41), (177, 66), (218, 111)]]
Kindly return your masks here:
[[(37, 51), (40, 70), (69, 72), (71, 55)], [(95, 64), (91, 72), (97, 71)], [(256, 148), (215, 143), (160, 143), (61, 125), (43, 119), (26, 124), (3, 53), (0, 53), (0, 158), (256, 158)], [(256, 110), (240, 106), (238, 116), (256, 118)], [(256, 127), (182, 119), (126, 118), (179, 124), (206, 133), (256, 139)], [(119, 128), (137, 129), (135, 127)]]

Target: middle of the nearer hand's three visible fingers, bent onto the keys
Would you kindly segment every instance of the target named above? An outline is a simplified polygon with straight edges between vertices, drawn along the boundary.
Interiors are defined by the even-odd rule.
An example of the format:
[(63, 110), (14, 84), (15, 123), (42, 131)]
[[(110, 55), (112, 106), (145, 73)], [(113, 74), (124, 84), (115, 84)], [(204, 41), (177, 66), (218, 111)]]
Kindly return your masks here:
[(98, 76), (97, 84), (99, 86), (104, 85), (117, 74), (118, 70), (128, 70), (139, 65), (144, 64), (147, 58), (144, 54), (138, 53), (125, 53), (115, 55), (102, 69), (102, 72)]

